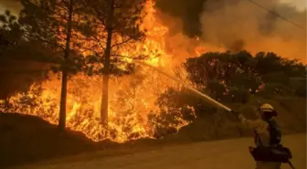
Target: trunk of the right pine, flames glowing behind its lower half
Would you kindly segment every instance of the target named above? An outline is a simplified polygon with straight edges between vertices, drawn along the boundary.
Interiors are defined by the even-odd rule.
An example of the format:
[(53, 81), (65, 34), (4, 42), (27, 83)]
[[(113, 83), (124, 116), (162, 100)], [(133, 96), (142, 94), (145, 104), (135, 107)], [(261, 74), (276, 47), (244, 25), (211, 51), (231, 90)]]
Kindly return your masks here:
[(107, 47), (105, 51), (103, 82), (102, 82), (102, 98), (101, 98), (101, 122), (104, 127), (108, 127), (108, 101), (109, 101), (109, 76), (110, 76), (110, 58), (111, 58), (111, 37), (113, 32), (112, 19), (114, 13), (114, 0), (109, 1), (109, 12), (107, 18)]

